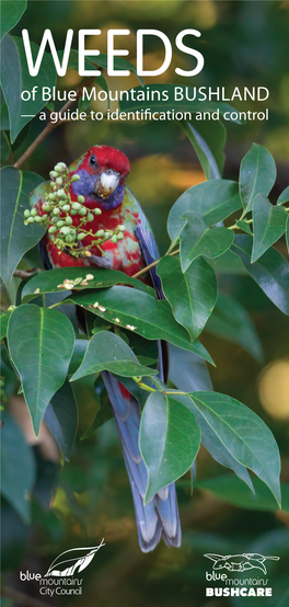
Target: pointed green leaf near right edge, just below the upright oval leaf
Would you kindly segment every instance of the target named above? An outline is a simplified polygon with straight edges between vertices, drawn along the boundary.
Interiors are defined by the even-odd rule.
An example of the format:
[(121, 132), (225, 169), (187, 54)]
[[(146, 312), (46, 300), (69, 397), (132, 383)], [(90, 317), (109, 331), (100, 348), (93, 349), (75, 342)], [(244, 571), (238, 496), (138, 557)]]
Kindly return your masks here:
[(254, 240), (252, 263), (256, 262), (285, 232), (287, 213), (284, 207), (273, 206), (263, 194), (253, 202)]

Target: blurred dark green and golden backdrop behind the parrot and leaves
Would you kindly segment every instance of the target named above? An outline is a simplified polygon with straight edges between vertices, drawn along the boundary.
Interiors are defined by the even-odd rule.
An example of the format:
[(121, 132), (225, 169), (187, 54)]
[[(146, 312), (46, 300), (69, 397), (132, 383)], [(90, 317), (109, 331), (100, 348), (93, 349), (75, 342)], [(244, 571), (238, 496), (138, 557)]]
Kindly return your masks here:
[[(280, 1), (30, 1), (12, 34), (21, 36), (27, 27), (31, 39), (41, 43), (43, 31), (53, 31), (57, 48), (63, 47), (68, 27), (102, 30), (102, 35), (88, 41), (90, 48), (106, 53), (106, 32), (111, 27), (128, 27), (124, 38), (129, 48), (128, 59), (135, 62), (136, 31), (162, 30), (171, 41), (186, 27), (201, 32), (196, 47), (205, 56), (205, 68), (194, 79), (176, 77), (178, 65), (189, 68), (189, 58), (176, 51), (171, 68), (149, 82), (180, 82), (188, 85), (267, 87), (270, 91), (266, 106), (269, 122), (248, 122), (243, 126), (227, 123), (224, 177), (238, 180), (239, 165), (253, 141), (262, 144), (275, 157), (278, 175), (273, 192), (275, 201), (288, 185), (289, 172), (289, 2)], [(162, 49), (155, 41), (146, 47), (151, 66), (161, 61)], [(112, 81), (115, 90), (137, 85), (135, 76)], [(72, 89), (80, 82), (69, 70), (59, 79), (60, 89)], [(259, 103), (234, 103), (240, 110), (262, 110)], [(59, 108), (56, 104), (56, 108)], [(15, 151), (14, 160), (26, 149), (43, 128), (34, 121), (25, 140)], [(128, 184), (148, 215), (160, 250), (169, 243), (166, 217), (175, 199), (189, 186), (204, 181), (196, 154), (173, 123), (70, 123), (58, 127), (23, 168), (45, 179), (57, 161), (69, 164), (94, 144), (106, 144), (127, 153), (131, 171)], [(277, 244), (285, 254), (285, 242)], [(27, 256), (39, 264), (37, 253)], [(222, 289), (238, 299), (251, 313), (264, 348), (264, 363), (258, 365), (235, 344), (205, 332), (201, 341), (217, 367), (210, 368), (217, 391), (238, 398), (252, 408), (269, 425), (279, 444), (284, 467), (282, 480), (289, 481), (289, 319), (277, 310), (261, 289), (246, 276), (232, 274), (229, 268), (218, 274)], [(13, 298), (18, 280), (10, 293), (3, 291), (3, 302)], [(12, 376), (11, 376), (12, 377)], [(177, 482), (183, 526), (181, 549), (163, 545), (150, 554), (138, 547), (135, 513), (120, 445), (114, 421), (108, 422), (86, 440), (81, 435), (95, 414), (92, 379), (78, 383), (77, 400), (80, 427), (71, 461), (60, 468), (56, 446), (45, 428), (36, 444), (25, 415), (21, 397), (13, 394), (15, 386), (7, 383), (12, 413), (24, 428), (38, 461), (38, 481), (33, 503), (33, 525), (24, 527), (18, 515), (3, 504), (3, 569), (4, 584), (16, 592), (39, 600), (38, 586), (19, 581), (19, 570), (45, 573), (61, 551), (80, 546), (94, 546), (105, 539), (105, 548), (94, 558), (85, 572), (83, 596), (42, 597), (50, 605), (68, 604), (92, 607), (147, 607), (182, 603), (184, 607), (242, 607), (244, 599), (206, 598), (205, 572), (211, 565), (206, 552), (235, 554), (262, 552), (277, 554), (280, 561), (268, 564), (268, 577), (274, 588), (273, 599), (247, 598), (247, 607), (258, 604), (281, 607), (288, 591), (289, 515), (287, 512), (242, 509), (218, 500), (210, 492), (195, 490), (190, 496), (188, 477)], [(198, 456), (198, 480), (227, 474), (203, 449)], [(59, 483), (54, 505), (47, 509), (51, 488)], [(37, 499), (36, 499), (37, 497)], [(261, 572), (257, 572), (261, 573)], [(254, 576), (257, 577), (257, 573)], [(21, 598), (5, 598), (5, 607), (24, 605)], [(286, 599), (282, 598), (288, 605)], [(30, 605), (30, 603), (27, 603)], [(33, 604), (31, 603), (33, 607)], [(36, 607), (36, 605), (35, 605)]]

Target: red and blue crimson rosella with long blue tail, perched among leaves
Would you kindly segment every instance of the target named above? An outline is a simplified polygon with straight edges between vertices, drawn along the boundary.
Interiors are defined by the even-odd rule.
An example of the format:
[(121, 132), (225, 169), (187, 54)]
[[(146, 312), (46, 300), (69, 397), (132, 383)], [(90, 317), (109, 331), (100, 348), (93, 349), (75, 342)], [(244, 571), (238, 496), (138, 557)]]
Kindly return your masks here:
[[(68, 266), (100, 266), (120, 270), (132, 276), (139, 270), (158, 259), (158, 248), (150, 225), (142, 213), (131, 190), (125, 184), (129, 173), (129, 161), (119, 150), (109, 146), (94, 146), (79, 160), (68, 168), (71, 201), (84, 197), (86, 209), (101, 209), (100, 215), (90, 214), (90, 222), (82, 222), (82, 228), (92, 230), (115, 230), (123, 226), (122, 240), (107, 240), (91, 249), (89, 257), (72, 257), (65, 251), (59, 251), (53, 234), (46, 233), (41, 243), (41, 252), (46, 270)], [(78, 180), (78, 181), (77, 181)], [(45, 202), (45, 184), (38, 186), (32, 195), (32, 205), (43, 215)], [(77, 228), (80, 216), (72, 216), (72, 226)], [(54, 228), (53, 228), (54, 231)], [(92, 237), (86, 236), (81, 245), (91, 244)], [(147, 282), (154, 286), (158, 297), (162, 297), (161, 284), (155, 271), (150, 272)], [(166, 379), (167, 356), (165, 344), (159, 344), (159, 374)], [(108, 391), (113, 413), (120, 438), (125, 463), (131, 485), (136, 509), (139, 543), (143, 552), (153, 550), (163, 537), (165, 543), (178, 547), (181, 545), (181, 525), (176, 501), (175, 485), (171, 484), (159, 491), (154, 497), (143, 504), (148, 474), (141, 458), (138, 439), (140, 426), (140, 409), (137, 400), (109, 373), (103, 373), (103, 380)]]

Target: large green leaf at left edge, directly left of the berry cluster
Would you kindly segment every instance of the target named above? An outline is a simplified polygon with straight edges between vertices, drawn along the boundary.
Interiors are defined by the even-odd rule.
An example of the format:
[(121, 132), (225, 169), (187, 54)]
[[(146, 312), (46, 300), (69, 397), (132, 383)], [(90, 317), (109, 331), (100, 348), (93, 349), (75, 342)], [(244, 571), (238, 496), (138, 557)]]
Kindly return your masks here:
[(30, 207), (30, 193), (42, 182), (42, 177), (14, 167), (1, 170), (1, 276), (8, 286), (12, 274), (26, 251), (43, 237), (44, 228), (37, 224), (24, 226), (23, 211)]

